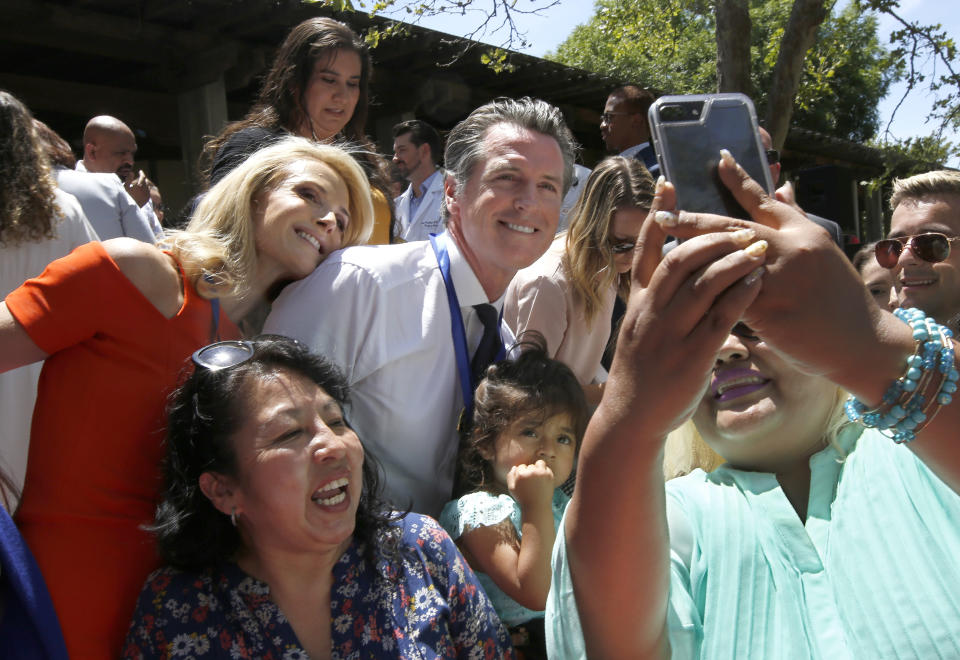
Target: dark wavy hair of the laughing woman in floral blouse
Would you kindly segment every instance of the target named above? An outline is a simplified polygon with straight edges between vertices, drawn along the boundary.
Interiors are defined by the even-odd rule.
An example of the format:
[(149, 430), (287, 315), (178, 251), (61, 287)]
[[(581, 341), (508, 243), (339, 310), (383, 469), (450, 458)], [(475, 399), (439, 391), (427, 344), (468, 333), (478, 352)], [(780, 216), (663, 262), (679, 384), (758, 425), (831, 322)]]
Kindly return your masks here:
[[(172, 395), (167, 425), (164, 492), (151, 527), (163, 560), (177, 568), (202, 570), (233, 557), (241, 539), (230, 517), (200, 490), (200, 475), (236, 476), (232, 436), (245, 417), (246, 393), (253, 379), (277, 372), (304, 376), (341, 406), (348, 401), (346, 380), (332, 363), (302, 344), (277, 335), (253, 340), (253, 356), (234, 367), (195, 368)], [(391, 559), (397, 552), (397, 516), (380, 499), (379, 469), (366, 454), (363, 493), (354, 537), (366, 558)]]

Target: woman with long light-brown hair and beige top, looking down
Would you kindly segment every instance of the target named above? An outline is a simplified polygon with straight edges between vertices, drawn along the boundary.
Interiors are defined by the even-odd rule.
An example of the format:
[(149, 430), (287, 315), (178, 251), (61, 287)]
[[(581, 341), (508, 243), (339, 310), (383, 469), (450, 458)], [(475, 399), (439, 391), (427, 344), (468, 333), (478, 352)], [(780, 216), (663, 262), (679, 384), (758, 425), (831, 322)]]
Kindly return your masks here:
[(507, 325), (517, 336), (542, 334), (551, 357), (570, 367), (594, 406), (614, 301), (630, 291), (633, 246), (652, 200), (653, 179), (640, 161), (602, 161), (584, 184), (567, 232), (507, 288)]

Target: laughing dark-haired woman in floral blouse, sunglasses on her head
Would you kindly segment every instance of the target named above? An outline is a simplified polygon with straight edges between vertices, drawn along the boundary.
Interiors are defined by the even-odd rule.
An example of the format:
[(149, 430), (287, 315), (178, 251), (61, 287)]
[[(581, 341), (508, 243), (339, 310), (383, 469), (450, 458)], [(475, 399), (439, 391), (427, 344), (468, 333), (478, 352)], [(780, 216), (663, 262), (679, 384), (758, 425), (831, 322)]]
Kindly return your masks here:
[(513, 657), (446, 532), (380, 500), (336, 367), (270, 335), (194, 363), (124, 657)]

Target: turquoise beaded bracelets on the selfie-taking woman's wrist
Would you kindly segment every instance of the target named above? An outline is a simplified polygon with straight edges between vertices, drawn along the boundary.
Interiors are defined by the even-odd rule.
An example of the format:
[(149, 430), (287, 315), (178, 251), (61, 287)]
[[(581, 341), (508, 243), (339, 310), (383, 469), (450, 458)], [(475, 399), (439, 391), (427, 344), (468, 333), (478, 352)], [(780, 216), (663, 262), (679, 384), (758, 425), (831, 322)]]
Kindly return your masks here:
[(910, 326), (917, 342), (913, 355), (907, 358), (907, 369), (887, 389), (880, 407), (869, 410), (851, 396), (845, 409), (850, 421), (880, 429), (894, 442), (903, 443), (914, 440), (940, 408), (953, 400), (960, 373), (954, 366), (953, 333), (949, 328), (916, 308), (893, 313)]

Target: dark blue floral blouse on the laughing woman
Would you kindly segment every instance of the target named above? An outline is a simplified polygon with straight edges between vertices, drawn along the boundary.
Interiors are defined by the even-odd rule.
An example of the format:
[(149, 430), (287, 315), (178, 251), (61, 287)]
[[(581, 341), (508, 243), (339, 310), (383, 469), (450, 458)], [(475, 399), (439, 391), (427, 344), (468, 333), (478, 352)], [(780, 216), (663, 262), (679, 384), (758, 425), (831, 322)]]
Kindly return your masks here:
[[(354, 541), (334, 565), (332, 658), (513, 658), (506, 629), (450, 537), (404, 516), (398, 562), (371, 566)], [(125, 658), (307, 658), (270, 587), (225, 562), (203, 573), (154, 571)]]

